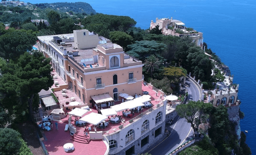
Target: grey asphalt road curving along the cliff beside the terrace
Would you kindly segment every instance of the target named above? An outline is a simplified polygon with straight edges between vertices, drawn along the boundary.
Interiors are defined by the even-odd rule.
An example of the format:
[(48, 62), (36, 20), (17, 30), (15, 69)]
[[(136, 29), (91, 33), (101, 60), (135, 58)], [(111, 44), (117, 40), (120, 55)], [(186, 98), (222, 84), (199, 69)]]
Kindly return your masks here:
[[(186, 78), (185, 84), (188, 85), (188, 100), (198, 101), (200, 98), (200, 90), (197, 88), (196, 84), (189, 78)], [(188, 123), (186, 119), (180, 118), (179, 116), (173, 120), (172, 124), (166, 127), (171, 131), (170, 135), (148, 153), (152, 155), (168, 155), (182, 143), (191, 139), (194, 134), (191, 124)]]

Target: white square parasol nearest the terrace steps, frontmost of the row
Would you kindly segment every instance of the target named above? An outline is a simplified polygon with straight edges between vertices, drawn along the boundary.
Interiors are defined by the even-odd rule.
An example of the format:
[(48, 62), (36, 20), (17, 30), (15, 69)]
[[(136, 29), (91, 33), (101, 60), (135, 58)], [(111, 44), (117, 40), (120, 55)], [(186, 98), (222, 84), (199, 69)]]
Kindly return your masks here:
[(92, 113), (82, 117), (79, 120), (85, 121), (85, 122), (93, 124), (93, 125), (97, 125), (107, 118), (108, 118), (107, 116), (103, 116), (101, 114), (92, 112)]

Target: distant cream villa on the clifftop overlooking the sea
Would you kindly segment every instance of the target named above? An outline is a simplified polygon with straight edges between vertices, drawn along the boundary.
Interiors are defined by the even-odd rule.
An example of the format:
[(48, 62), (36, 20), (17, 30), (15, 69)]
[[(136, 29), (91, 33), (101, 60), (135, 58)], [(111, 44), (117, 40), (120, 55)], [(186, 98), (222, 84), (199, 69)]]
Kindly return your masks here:
[[(179, 37), (189, 36), (193, 38), (193, 40), (195, 40), (197, 46), (200, 46), (201, 49), (203, 48), (203, 33), (197, 32), (196, 30), (187, 30), (185, 24), (182, 23), (180, 20), (176, 20), (173, 18), (156, 18), (155, 23), (153, 22), (153, 20), (151, 20), (150, 30), (152, 28), (155, 28), (157, 25), (159, 25), (159, 30), (162, 29), (163, 35), (173, 35)], [(177, 29), (179, 29), (182, 33), (176, 32)]]

